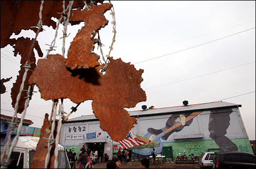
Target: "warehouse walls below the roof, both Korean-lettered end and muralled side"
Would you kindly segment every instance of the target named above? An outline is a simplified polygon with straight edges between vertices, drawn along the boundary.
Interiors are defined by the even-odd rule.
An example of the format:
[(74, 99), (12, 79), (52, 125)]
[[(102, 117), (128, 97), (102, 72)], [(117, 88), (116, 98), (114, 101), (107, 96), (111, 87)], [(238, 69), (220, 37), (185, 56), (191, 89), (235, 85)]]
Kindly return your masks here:
[[(186, 155), (192, 152), (200, 155), (207, 151), (242, 151), (253, 154), (238, 108), (188, 111), (136, 119), (137, 124), (130, 133), (147, 144), (131, 148), (135, 160), (150, 156), (153, 148), (156, 154), (161, 154), (163, 147), (172, 148), (172, 157), (184, 151)], [(68, 148), (77, 147), (80, 143), (113, 143), (113, 156), (116, 156), (117, 151), (123, 148), (121, 142), (113, 142), (108, 132), (99, 126), (99, 121), (65, 123), (62, 125), (60, 144)], [(87, 138), (87, 134), (94, 132), (95, 138)], [(83, 135), (83, 138), (78, 135)]]

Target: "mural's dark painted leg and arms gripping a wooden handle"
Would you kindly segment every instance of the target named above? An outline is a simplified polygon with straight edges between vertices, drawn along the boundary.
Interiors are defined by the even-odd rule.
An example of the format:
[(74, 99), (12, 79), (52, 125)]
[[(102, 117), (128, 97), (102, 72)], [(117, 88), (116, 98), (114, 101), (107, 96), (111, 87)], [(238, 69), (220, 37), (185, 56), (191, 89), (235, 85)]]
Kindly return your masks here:
[[(189, 126), (193, 122), (193, 118), (199, 115), (202, 111), (192, 113), (181, 113), (171, 115), (165, 123), (165, 127), (161, 129), (148, 128), (147, 131), (152, 134), (148, 143), (154, 139), (155, 136), (160, 136), (163, 140), (173, 132), (181, 131), (185, 126)], [(222, 151), (238, 151), (238, 147), (228, 137), (225, 136), (229, 126), (232, 109), (211, 110), (209, 116), (208, 130), (209, 137), (212, 138)], [(216, 125), (217, 124), (217, 125)]]

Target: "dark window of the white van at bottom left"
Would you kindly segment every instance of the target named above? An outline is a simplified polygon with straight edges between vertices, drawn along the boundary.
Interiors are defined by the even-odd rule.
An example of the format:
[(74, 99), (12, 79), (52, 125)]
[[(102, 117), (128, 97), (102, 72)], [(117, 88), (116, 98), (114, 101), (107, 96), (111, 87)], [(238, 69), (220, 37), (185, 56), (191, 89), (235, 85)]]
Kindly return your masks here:
[(23, 168), (24, 153), (12, 152), (10, 156), (11, 163), (8, 168)]

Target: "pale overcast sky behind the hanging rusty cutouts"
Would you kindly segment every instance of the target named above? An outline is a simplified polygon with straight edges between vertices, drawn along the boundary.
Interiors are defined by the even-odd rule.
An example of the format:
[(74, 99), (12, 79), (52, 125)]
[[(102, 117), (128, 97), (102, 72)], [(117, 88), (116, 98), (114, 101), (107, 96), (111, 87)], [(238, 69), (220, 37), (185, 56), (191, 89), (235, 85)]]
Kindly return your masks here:
[[(141, 87), (147, 100), (126, 110), (140, 110), (144, 104), (155, 108), (179, 106), (184, 100), (188, 104), (218, 100), (241, 104), (239, 109), (249, 139), (255, 140), (255, 1), (112, 1), (112, 4), (117, 34), (111, 57), (144, 70)], [(108, 54), (113, 37), (110, 11), (105, 17), (109, 24), (99, 32), (105, 45), (104, 55)], [(68, 27), (71, 35), (66, 40), (66, 51), (83, 25)], [(48, 26), (44, 29), (37, 40), (45, 57), (49, 48), (46, 43), (52, 42), (55, 31)], [(60, 25), (57, 50), (50, 54), (62, 54), (62, 39), (59, 39), (62, 30)], [(20, 36), (34, 38), (35, 33), (22, 31), (11, 38)], [(1, 114), (8, 116), (13, 116), (10, 93), (20, 65), (20, 56), (13, 57), (12, 51), (10, 45), (1, 48), (1, 79), (12, 76), (4, 83), (7, 93), (1, 94)], [(100, 54), (97, 47), (94, 52)], [(81, 103), (69, 119), (92, 115), (91, 103)], [(25, 118), (33, 121), (32, 127), (41, 128), (51, 105), (52, 101), (41, 99), (37, 92)], [(64, 110), (69, 113), (75, 105), (65, 99)]]

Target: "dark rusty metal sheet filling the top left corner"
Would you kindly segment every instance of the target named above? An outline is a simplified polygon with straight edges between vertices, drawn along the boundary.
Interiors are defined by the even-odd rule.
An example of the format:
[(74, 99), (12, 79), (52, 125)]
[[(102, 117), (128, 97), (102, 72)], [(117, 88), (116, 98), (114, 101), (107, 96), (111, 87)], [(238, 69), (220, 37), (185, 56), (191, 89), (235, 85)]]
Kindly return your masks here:
[[(69, 1), (65, 2), (66, 7)], [(39, 21), (41, 1), (1, 1), (1, 47), (9, 44), (12, 33), (18, 35), (22, 29), (33, 30)], [(74, 1), (73, 8), (83, 7), (83, 1)], [(62, 1), (45, 1), (42, 9), (42, 24), (56, 28), (51, 17), (59, 18), (62, 12)], [(28, 12), (29, 11), (29, 12)]]

